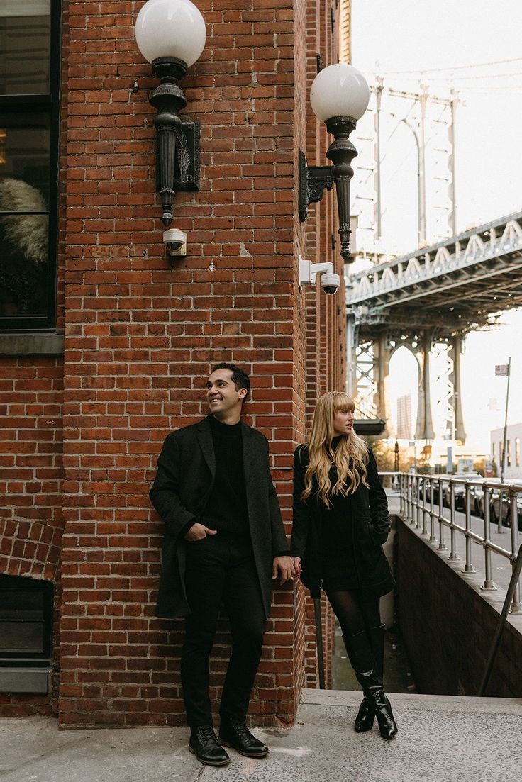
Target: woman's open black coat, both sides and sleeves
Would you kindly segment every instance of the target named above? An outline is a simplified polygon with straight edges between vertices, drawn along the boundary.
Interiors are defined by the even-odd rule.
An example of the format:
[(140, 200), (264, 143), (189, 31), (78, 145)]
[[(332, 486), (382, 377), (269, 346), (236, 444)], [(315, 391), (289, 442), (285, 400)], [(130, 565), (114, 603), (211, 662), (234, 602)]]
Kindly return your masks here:
[[(312, 493), (306, 503), (301, 500), (308, 463), (308, 447), (298, 446), (293, 455), (292, 556), (301, 557), (301, 581), (310, 590), (311, 597), (319, 597), (322, 583), (321, 500), (317, 493)], [(369, 488), (360, 483), (355, 493), (348, 495), (358, 586), (375, 590), (376, 594), (386, 594), (394, 586), (382, 546), (390, 532), (390, 515), (372, 450), (369, 450), (366, 479)]]

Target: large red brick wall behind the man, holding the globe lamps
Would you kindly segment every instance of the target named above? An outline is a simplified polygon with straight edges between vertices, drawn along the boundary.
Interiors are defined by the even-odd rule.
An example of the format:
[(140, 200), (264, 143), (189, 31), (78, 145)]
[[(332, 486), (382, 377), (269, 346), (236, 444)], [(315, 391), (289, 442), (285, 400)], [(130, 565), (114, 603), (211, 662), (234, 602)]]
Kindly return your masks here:
[[(326, 63), (332, 56), (329, 9), (309, 0), (196, 2), (207, 46), (182, 88), (185, 116), (201, 122), (201, 188), (176, 196), (174, 224), (189, 243), (187, 257), (172, 268), (154, 193), (149, 95), (156, 82), (131, 29), (141, 4), (64, 4), (64, 370), (54, 360), (5, 360), (9, 380), (0, 381), (6, 404), (15, 404), (16, 393), (16, 404), (26, 405), (5, 410), (15, 443), (5, 463), (15, 483), (5, 487), (6, 523), (38, 508), (29, 518), (41, 525), (7, 528), (2, 572), (55, 576), (65, 522), (63, 727), (184, 721), (182, 622), (153, 616), (162, 524), (147, 493), (164, 436), (206, 413), (211, 365), (235, 361), (250, 372), (247, 420), (271, 441), (289, 533), (292, 454), (304, 437), (306, 411), (344, 377), (336, 331), (344, 320), (343, 307), (337, 314), (342, 292), (326, 301), (297, 285), (300, 253), (335, 260), (340, 271), (330, 249), (333, 194), (310, 210), (306, 224), (299, 223), (296, 198), (298, 149), (307, 149), (311, 163), (324, 162), (326, 133), (311, 120), (308, 88), (315, 51)], [(59, 303), (61, 316), (63, 298)], [(16, 383), (27, 367), (34, 375), (23, 382), (34, 381), (32, 396), (20, 403)], [(61, 425), (41, 426), (58, 418), (62, 404), (63, 498)], [(53, 477), (38, 472), (51, 468)], [(20, 546), (36, 529), (42, 543), (52, 533), (46, 552), (42, 543), (33, 558), (30, 543), (25, 558), (11, 551), (13, 536)], [(275, 589), (250, 709), (257, 724), (291, 723), (302, 684), (313, 682), (308, 614), (302, 587), (295, 597)], [(326, 615), (327, 651), (331, 626)], [(216, 703), (228, 657), (223, 619), (212, 669)], [(16, 703), (29, 713), (37, 701)]]

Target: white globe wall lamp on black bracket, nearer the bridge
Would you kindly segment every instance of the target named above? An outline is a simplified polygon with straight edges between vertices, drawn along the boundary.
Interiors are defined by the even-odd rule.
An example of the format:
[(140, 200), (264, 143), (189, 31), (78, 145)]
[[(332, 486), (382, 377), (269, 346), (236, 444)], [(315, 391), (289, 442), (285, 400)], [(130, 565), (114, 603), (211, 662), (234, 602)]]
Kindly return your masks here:
[(345, 263), (350, 263), (350, 180), (354, 175), (351, 161), (357, 149), (348, 136), (368, 107), (368, 84), (357, 68), (347, 63), (329, 65), (315, 77), (310, 102), (315, 116), (326, 122), (328, 132), (335, 137), (326, 152), (333, 166), (307, 166), (304, 152), (299, 152), (299, 219), (306, 220), (307, 206), (319, 203), (325, 188), (331, 190), (335, 182), (340, 254)]

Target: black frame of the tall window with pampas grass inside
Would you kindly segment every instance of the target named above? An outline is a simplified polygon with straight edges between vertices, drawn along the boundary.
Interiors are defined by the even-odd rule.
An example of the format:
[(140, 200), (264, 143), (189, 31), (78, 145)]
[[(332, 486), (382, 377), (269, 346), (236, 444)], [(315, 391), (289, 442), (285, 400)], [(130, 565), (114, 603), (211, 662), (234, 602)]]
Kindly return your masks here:
[[(47, 312), (45, 315), (16, 317), (0, 316), (0, 334), (12, 332), (41, 332), (56, 328), (56, 289), (58, 270), (58, 202), (59, 202), (59, 113), (60, 72), (62, 52), (62, 2), (51, 0), (50, 9), (50, 63), (49, 92), (36, 95), (0, 95), (0, 125), (9, 112), (44, 113), (49, 116), (49, 210), (48, 210), (48, 264)], [(29, 212), (20, 212), (27, 214)], [(0, 215), (5, 212), (0, 212)]]

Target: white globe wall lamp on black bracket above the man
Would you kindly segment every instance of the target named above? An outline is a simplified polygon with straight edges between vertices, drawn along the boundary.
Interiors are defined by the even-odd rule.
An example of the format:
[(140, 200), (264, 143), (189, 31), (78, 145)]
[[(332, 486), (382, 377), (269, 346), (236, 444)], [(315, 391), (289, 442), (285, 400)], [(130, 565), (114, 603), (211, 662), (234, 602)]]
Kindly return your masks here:
[(161, 219), (168, 227), (175, 191), (200, 189), (200, 124), (179, 117), (187, 100), (178, 81), (203, 52), (205, 20), (190, 0), (147, 0), (136, 19), (135, 34), (139, 51), (160, 79), (150, 102), (157, 109), (156, 185)]

